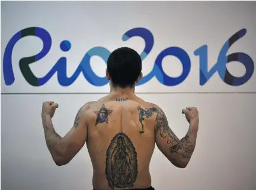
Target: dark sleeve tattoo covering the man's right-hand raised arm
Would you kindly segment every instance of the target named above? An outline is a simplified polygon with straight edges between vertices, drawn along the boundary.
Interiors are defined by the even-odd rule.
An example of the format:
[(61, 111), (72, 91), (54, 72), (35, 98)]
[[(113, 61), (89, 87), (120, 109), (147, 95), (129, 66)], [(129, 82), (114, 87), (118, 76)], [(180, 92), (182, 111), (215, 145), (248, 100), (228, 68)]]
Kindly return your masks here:
[(169, 128), (167, 117), (161, 109), (159, 109), (158, 116), (156, 117), (156, 133), (158, 132), (162, 139), (167, 139), (171, 153), (177, 153), (183, 158), (191, 157), (194, 151), (194, 145), (191, 142), (192, 140), (188, 135), (179, 140), (174, 132)]

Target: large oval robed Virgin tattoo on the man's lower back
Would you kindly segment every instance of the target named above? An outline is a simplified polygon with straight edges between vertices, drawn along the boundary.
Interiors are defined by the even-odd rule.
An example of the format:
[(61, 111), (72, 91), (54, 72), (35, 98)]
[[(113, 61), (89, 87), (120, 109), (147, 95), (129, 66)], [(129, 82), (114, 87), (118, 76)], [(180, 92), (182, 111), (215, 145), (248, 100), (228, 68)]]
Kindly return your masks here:
[(114, 136), (108, 146), (105, 174), (111, 189), (131, 188), (136, 181), (137, 153), (124, 133)]

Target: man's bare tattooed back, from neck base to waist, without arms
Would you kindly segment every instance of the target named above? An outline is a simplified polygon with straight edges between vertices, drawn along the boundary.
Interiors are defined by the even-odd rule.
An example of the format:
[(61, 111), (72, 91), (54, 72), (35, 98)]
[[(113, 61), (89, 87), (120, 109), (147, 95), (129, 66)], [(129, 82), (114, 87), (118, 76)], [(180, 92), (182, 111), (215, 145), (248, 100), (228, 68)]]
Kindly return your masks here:
[(89, 103), (87, 148), (95, 189), (148, 188), (157, 108), (136, 96)]

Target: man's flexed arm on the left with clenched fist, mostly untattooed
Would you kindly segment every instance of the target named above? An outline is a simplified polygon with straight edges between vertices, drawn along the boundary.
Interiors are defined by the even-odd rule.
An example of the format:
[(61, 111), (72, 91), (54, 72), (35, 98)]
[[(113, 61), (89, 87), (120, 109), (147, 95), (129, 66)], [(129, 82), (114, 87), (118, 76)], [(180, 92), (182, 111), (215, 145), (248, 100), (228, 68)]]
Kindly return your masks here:
[(81, 150), (87, 140), (86, 106), (81, 107), (76, 114), (72, 129), (64, 136), (59, 136), (53, 127), (52, 117), (57, 108), (53, 102), (44, 102), (42, 120), (46, 145), (56, 165), (69, 163)]

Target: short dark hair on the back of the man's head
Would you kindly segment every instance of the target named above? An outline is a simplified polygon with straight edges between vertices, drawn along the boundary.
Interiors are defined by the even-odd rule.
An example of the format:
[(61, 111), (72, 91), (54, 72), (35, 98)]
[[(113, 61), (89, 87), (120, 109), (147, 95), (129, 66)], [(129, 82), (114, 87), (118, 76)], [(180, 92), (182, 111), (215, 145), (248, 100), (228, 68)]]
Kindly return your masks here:
[(114, 87), (133, 87), (142, 70), (142, 60), (132, 48), (121, 47), (110, 54), (107, 68)]

